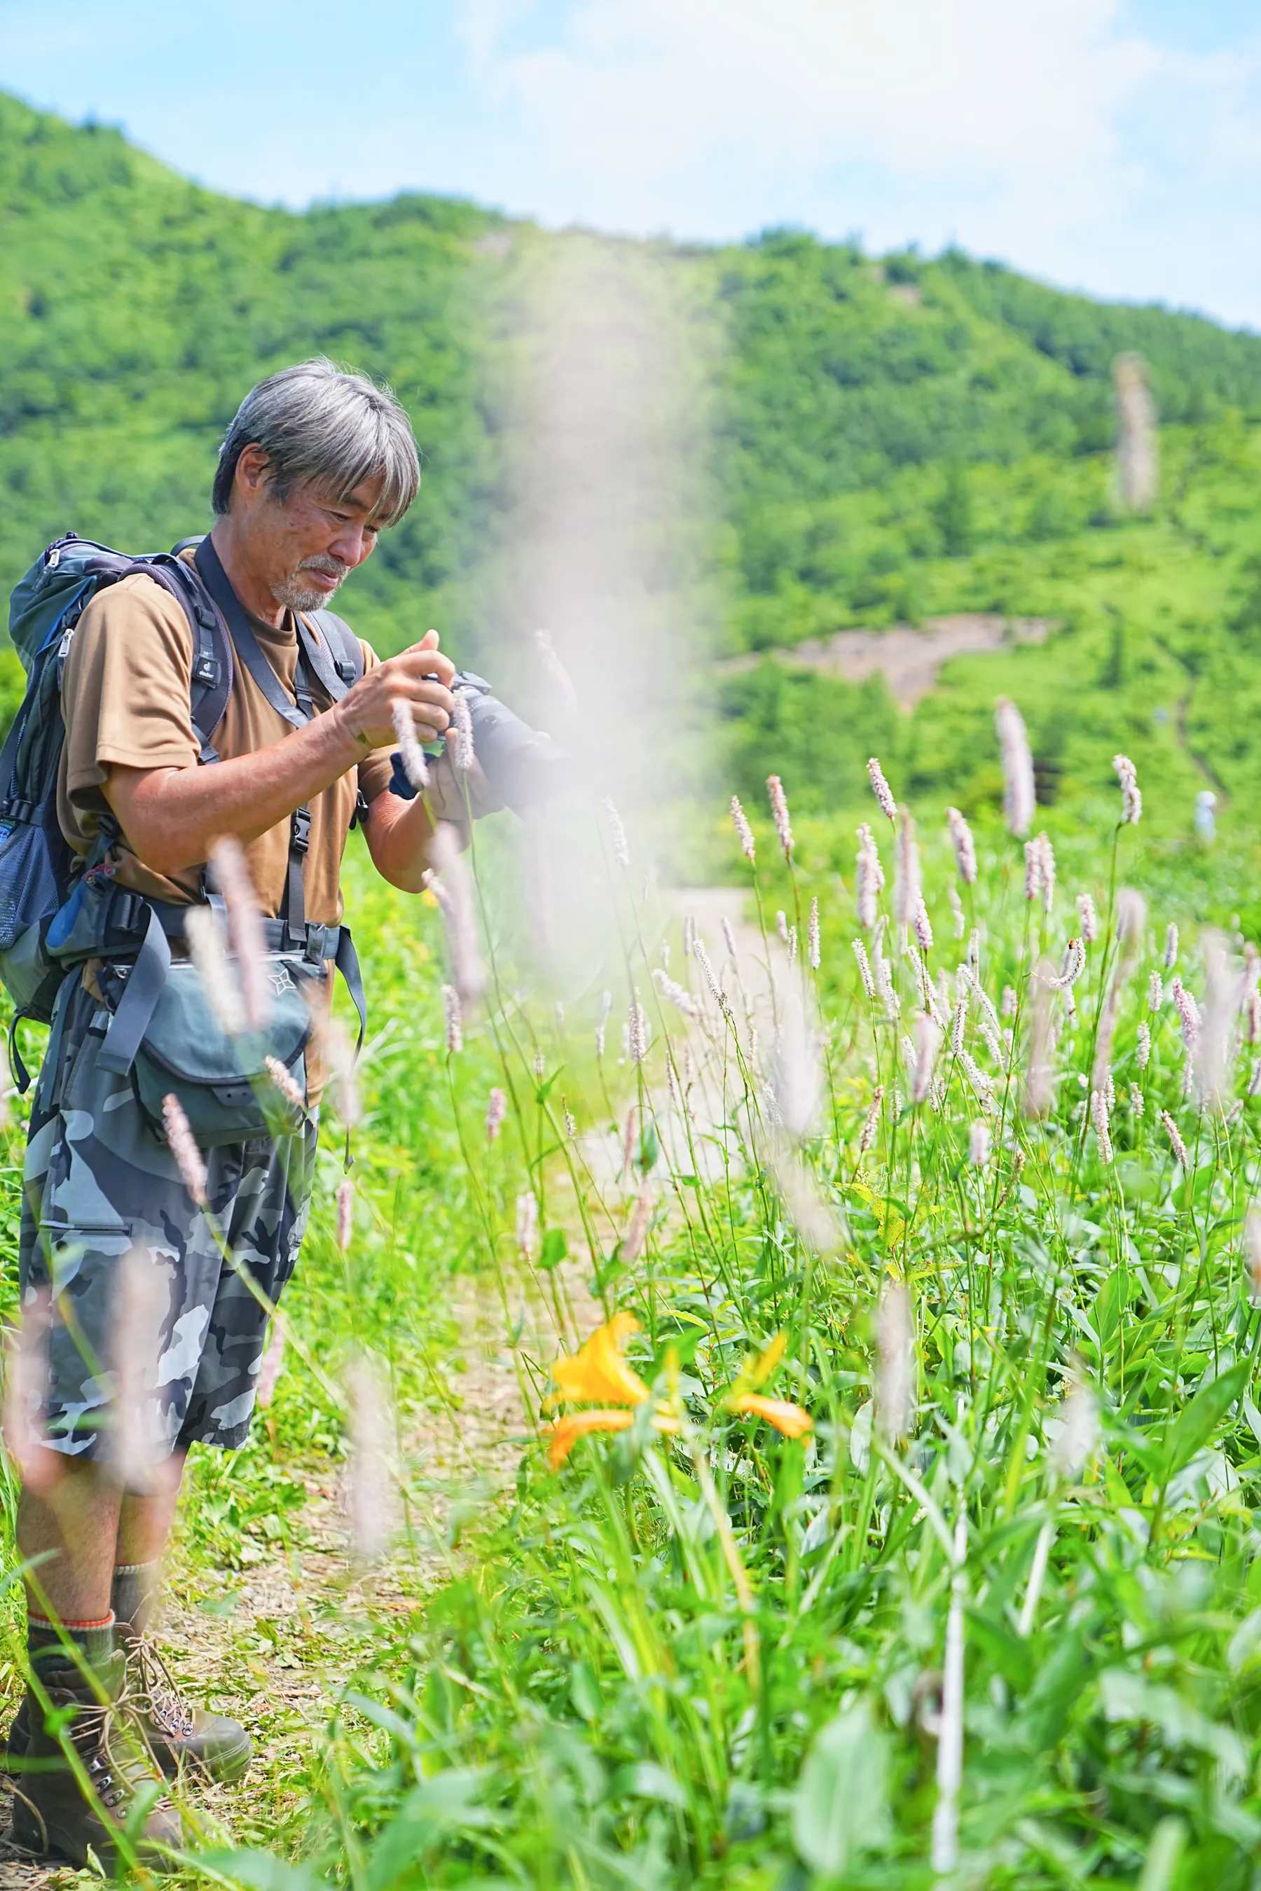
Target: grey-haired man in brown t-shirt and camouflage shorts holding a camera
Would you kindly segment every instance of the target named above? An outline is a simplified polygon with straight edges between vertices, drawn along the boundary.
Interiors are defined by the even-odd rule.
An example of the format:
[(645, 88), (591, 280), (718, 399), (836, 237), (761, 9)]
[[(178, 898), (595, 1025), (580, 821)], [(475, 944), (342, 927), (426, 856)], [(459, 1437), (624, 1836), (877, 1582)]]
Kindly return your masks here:
[[(263, 913), (276, 919), (293, 893), (291, 817), (308, 809), (302, 917), (329, 927), (331, 938), (357, 804), (374, 866), (405, 891), (422, 885), (431, 821), (467, 819), (465, 781), (475, 813), (497, 806), (476, 768), (456, 783), (446, 753), (427, 796), (386, 792), (397, 705), (410, 711), (422, 743), (448, 736), (454, 666), (433, 632), (388, 662), (363, 645), (363, 675), (340, 700), (301, 654), (295, 613), (329, 603), (418, 488), (408, 420), (367, 378), (304, 361), (246, 397), (219, 452), (216, 524), (197, 565), (231, 586), (274, 677), (261, 686), (257, 671), (234, 664), (214, 766), (197, 766), (206, 756), (189, 709), (193, 632), (170, 592), (146, 575), (100, 592), (66, 660), (59, 823), (79, 855), (104, 853), (115, 885), (166, 906), (197, 902), (214, 843), (233, 836)], [(301, 707), (302, 692), (310, 717), (282, 715)], [(157, 1685), (142, 1638), (185, 1452), (193, 1441), (244, 1443), (267, 1326), (265, 1309), (221, 1263), (129, 1078), (98, 1063), (110, 1023), (102, 980), (108, 985), (104, 957), (68, 972), (60, 987), (30, 1118), (19, 1258), (23, 1307), (47, 1322), (47, 1352), (36, 1413), (43, 1443), (17, 1522), (19, 1551), (34, 1560), (34, 1683), (9, 1732), (9, 1766), (21, 1774), (13, 1827), (19, 1842), (79, 1865), (89, 1846), (98, 1857), (113, 1853), (113, 1825), (151, 1778), (146, 1745), (166, 1774), (189, 1761), (212, 1778), (238, 1778), (248, 1764), (244, 1728)], [(297, 1161), (268, 1140), (206, 1152), (210, 1212), (272, 1303), (306, 1222), (314, 1127), (302, 1138)], [(100, 1367), (115, 1346), (119, 1280), (136, 1258), (161, 1280), (157, 1358), (134, 1363), (170, 1458), (149, 1488), (125, 1490), (108, 1449), (117, 1380)], [(70, 1738), (91, 1795), (45, 1726), (45, 1702), (74, 1709)], [(123, 1738), (129, 1717), (144, 1742)], [(166, 1800), (149, 1812), (144, 1834), (180, 1842)]]

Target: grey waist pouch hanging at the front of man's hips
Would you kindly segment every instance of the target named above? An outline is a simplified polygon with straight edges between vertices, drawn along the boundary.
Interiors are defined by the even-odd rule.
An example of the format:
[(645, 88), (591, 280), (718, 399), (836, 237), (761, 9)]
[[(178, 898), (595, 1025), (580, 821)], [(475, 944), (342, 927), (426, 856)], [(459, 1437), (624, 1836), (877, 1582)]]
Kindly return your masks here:
[[(274, 1057), (306, 1101), (306, 1046), (310, 1010), (295, 981), (291, 959), (268, 959), (272, 970), (272, 1015), (267, 1031), (229, 1036), (206, 998), (197, 968), (187, 959), (172, 959), (144, 1036), (130, 1065), (136, 1101), (153, 1129), (163, 1135), (163, 1099), (174, 1095), (202, 1150), (227, 1142), (253, 1142), (259, 1136), (291, 1136), (306, 1112), (287, 1099), (268, 1072)], [(310, 997), (323, 983), (321, 968), (301, 968), (301, 983)], [(100, 991), (110, 1010), (127, 991), (127, 966), (104, 966)], [(280, 987), (280, 989), (276, 989)]]

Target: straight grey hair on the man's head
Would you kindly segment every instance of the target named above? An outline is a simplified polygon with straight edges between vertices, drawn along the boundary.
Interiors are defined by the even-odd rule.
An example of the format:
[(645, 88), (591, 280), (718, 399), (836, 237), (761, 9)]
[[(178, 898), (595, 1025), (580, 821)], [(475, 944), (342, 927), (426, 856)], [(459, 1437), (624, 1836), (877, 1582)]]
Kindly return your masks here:
[(378, 478), (376, 516), (397, 526), (420, 490), (412, 424), (393, 390), (325, 356), (268, 374), (240, 403), (210, 492), (217, 514), (231, 505), (236, 461), (255, 444), (267, 454), (280, 501), (306, 480), (346, 499), (363, 480)]

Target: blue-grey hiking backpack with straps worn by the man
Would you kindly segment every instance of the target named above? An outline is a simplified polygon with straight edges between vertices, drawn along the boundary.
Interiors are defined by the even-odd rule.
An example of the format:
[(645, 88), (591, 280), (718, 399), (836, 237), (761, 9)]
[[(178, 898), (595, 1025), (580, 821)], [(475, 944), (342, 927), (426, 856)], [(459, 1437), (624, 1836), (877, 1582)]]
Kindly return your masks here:
[[(219, 760), (210, 737), (227, 709), (234, 656), (246, 660), (251, 675), (257, 671), (257, 641), (231, 588), (225, 592), (227, 581), (217, 558), (212, 556), (212, 565), (221, 581), (216, 592), (225, 592), (221, 607), (202, 573), (176, 556), (185, 546), (202, 543), (208, 545), (183, 539), (172, 552), (132, 556), (66, 533), (36, 558), (13, 588), (9, 635), (26, 671), (26, 694), (0, 749), (0, 980), (17, 1006), (13, 1027), (23, 1017), (51, 1021), (64, 963), (47, 949), (49, 927), (117, 836), (117, 828), (104, 823), (96, 847), (83, 859), (66, 843), (57, 821), (57, 772), (66, 737), (60, 683), (76, 626), (91, 599), (108, 584), (142, 571), (180, 603), (193, 630), (189, 715), (202, 764)], [(316, 611), (312, 616), (327, 639), (333, 664), (318, 660), (318, 647), (312, 649), (310, 641), (306, 656), (325, 690), (335, 698), (342, 696), (363, 675), (359, 639), (331, 611)], [(306, 626), (302, 633), (306, 635)], [(265, 668), (267, 675), (257, 673), (255, 679), (268, 700), (278, 707), (284, 703), (287, 720), (306, 720), (310, 703), (295, 711), (284, 698), (276, 673), (270, 666)], [(295, 834), (302, 832), (302, 815), (304, 809), (299, 809), (293, 817)], [(299, 845), (295, 840), (293, 851), (301, 904), (304, 841)], [(291, 881), (293, 877), (291, 874)], [(13, 1055), (11, 1061), (19, 1089), (25, 1091), (21, 1059)]]

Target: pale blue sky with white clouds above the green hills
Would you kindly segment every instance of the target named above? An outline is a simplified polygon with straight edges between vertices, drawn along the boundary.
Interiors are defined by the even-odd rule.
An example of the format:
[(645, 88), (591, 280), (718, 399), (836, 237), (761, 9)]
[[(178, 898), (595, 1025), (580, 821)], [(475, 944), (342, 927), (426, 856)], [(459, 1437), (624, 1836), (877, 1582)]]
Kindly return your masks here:
[(267, 202), (955, 240), (1261, 329), (1255, 0), (0, 0), (0, 87)]

